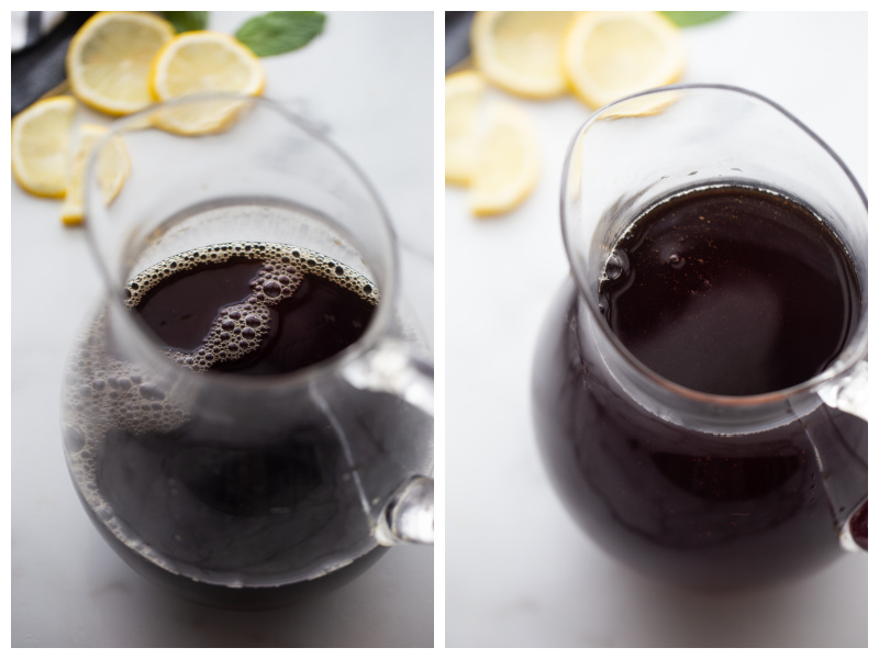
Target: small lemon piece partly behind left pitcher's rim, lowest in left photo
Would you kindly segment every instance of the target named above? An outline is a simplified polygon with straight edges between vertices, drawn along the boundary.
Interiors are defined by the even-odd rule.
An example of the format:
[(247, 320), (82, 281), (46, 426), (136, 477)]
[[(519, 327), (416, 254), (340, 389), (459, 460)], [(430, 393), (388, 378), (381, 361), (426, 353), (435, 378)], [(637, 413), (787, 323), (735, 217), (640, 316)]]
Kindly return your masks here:
[[(68, 225), (81, 224), (85, 215), (84, 191), (86, 167), (97, 142), (108, 132), (104, 126), (84, 124), (79, 126), (79, 142), (69, 167), (67, 194), (62, 206), (62, 222)], [(104, 203), (110, 203), (119, 194), (129, 175), (131, 161), (125, 145), (119, 135), (104, 144), (96, 164), (98, 186)]]

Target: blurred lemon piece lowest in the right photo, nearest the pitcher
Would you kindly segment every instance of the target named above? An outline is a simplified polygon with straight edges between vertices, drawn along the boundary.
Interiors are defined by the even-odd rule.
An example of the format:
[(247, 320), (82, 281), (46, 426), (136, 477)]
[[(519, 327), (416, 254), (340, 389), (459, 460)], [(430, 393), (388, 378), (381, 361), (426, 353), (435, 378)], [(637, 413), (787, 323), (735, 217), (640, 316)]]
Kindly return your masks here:
[(479, 124), (468, 205), (477, 216), (497, 215), (521, 204), (537, 185), (537, 133), (531, 116), (505, 101), (489, 103)]

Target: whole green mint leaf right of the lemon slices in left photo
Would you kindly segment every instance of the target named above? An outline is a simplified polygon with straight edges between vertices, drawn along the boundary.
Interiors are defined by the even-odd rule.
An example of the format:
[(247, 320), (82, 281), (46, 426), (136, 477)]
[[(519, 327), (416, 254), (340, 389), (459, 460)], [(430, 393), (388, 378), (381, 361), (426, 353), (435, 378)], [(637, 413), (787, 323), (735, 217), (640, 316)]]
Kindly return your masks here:
[(325, 20), (319, 11), (270, 11), (247, 21), (235, 38), (257, 57), (280, 55), (301, 48), (318, 36)]

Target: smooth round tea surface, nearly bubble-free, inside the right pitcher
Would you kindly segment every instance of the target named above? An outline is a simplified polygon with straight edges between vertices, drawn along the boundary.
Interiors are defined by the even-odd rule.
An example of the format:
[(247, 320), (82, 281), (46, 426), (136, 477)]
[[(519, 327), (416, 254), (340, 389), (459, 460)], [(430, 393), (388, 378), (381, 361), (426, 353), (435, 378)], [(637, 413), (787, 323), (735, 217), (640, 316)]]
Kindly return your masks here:
[(608, 261), (600, 299), (643, 364), (723, 395), (817, 375), (859, 306), (846, 252), (814, 213), (734, 186), (687, 191), (635, 220)]

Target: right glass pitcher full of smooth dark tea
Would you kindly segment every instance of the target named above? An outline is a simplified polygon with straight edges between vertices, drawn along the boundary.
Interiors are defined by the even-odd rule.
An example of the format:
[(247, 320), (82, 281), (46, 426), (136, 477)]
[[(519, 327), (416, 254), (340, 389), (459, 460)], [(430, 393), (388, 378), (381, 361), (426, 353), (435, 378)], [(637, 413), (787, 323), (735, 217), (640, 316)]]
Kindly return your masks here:
[[(763, 99), (654, 93), (656, 112), (599, 111), (571, 148), (572, 276), (534, 364), (542, 454), (574, 517), (637, 570), (712, 589), (790, 578), (832, 560), (841, 536), (866, 548), (866, 522), (850, 524), (866, 520), (866, 412), (831, 404), (857, 399), (866, 355), (866, 200)], [(721, 107), (732, 119), (712, 142)], [(791, 137), (775, 163), (759, 112), (772, 139)], [(627, 190), (590, 150), (668, 141), (694, 159), (630, 163), (641, 182), (656, 170)], [(826, 198), (766, 167), (812, 148)]]

